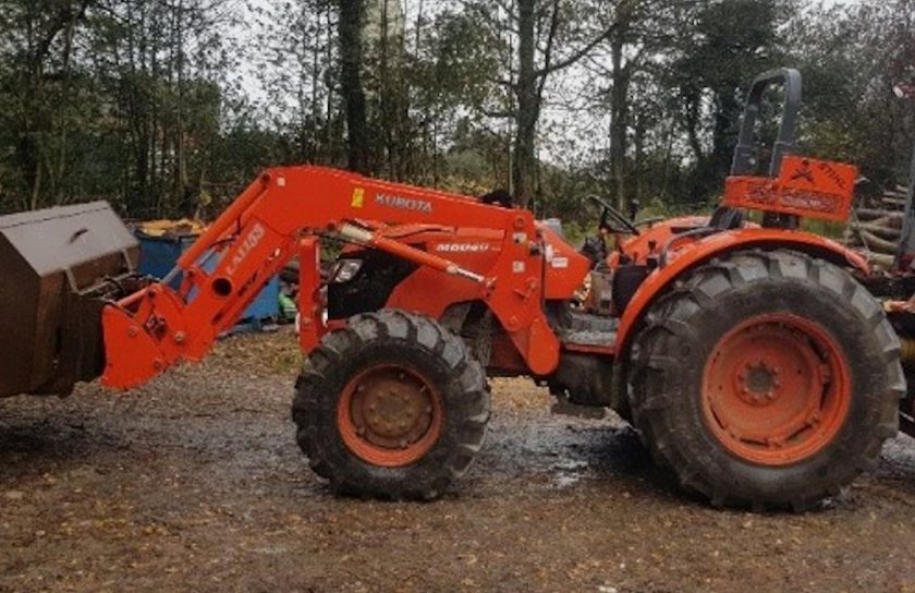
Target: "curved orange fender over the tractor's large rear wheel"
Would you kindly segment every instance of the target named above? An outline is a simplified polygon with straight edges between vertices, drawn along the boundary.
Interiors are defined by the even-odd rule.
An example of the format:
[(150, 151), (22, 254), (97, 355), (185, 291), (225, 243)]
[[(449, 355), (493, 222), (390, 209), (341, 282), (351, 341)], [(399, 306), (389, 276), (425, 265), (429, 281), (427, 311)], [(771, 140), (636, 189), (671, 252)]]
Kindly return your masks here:
[(864, 274), (870, 273), (870, 266), (859, 254), (835, 241), (808, 232), (745, 228), (709, 235), (684, 246), (666, 266), (648, 276), (638, 288), (620, 319), (617, 335), (617, 360), (620, 362), (626, 360), (643, 315), (651, 303), (672, 288), (684, 274), (716, 257), (736, 251), (756, 249), (797, 251), (839, 267), (856, 268)]

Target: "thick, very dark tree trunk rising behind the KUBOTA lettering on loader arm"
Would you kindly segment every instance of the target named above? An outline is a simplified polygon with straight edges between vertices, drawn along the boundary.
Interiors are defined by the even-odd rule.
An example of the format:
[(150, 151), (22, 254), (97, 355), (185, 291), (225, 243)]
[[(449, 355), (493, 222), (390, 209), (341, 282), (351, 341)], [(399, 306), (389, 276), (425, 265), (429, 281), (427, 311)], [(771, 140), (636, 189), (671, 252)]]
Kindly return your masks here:
[(346, 110), (349, 168), (368, 173), (368, 132), (362, 82), (364, 0), (340, 0), (341, 88)]

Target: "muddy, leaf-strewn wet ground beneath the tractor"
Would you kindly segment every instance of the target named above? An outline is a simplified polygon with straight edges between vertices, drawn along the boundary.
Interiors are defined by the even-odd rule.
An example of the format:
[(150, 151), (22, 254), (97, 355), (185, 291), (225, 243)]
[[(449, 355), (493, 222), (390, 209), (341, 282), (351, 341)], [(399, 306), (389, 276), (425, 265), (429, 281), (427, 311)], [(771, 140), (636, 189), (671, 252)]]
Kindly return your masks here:
[(621, 422), (493, 382), (441, 500), (340, 499), (289, 420), (288, 332), (126, 395), (0, 401), (0, 591), (915, 592), (915, 440), (819, 511), (719, 511)]

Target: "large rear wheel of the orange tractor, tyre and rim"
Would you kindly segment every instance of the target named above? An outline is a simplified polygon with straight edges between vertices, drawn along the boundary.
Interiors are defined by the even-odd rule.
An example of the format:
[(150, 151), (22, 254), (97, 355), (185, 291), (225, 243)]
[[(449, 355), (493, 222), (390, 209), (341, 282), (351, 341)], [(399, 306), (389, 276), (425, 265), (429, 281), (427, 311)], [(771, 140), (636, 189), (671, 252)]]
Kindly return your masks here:
[(876, 465), (905, 380), (880, 304), (807, 255), (742, 252), (646, 316), (630, 399), (652, 456), (713, 505), (803, 510)]

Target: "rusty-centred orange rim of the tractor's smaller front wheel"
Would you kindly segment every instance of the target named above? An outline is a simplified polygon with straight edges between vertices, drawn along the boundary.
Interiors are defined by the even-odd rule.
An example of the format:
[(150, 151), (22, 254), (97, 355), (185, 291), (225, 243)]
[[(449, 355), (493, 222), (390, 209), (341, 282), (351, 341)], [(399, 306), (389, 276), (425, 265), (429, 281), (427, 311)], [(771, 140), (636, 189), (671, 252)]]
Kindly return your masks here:
[(443, 419), (438, 391), (415, 371), (395, 364), (356, 375), (337, 404), (337, 426), (346, 447), (385, 468), (422, 459), (441, 436)]

